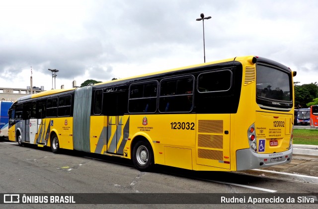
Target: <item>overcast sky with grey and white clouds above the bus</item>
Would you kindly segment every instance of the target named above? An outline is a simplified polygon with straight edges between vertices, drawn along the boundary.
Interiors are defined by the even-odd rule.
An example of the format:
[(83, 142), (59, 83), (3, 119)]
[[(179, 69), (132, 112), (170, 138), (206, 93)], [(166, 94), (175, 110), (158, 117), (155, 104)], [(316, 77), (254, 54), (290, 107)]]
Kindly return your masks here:
[(56, 88), (255, 55), (318, 82), (317, 0), (0, 0), (0, 87)]

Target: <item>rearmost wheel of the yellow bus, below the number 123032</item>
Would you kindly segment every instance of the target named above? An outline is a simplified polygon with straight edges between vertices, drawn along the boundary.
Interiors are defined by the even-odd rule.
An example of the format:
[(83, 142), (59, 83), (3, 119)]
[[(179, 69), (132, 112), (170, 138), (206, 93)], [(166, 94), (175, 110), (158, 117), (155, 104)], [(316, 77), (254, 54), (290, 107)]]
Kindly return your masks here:
[(154, 165), (154, 152), (146, 140), (139, 140), (133, 147), (133, 162), (140, 171), (149, 171)]

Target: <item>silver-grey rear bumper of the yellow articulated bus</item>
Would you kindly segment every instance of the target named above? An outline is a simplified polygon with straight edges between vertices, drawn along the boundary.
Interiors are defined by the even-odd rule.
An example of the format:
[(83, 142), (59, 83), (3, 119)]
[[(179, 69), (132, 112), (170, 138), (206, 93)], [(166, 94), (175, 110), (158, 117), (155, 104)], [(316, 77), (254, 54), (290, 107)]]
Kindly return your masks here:
[(255, 153), (250, 148), (240, 149), (237, 151), (237, 171), (290, 163), (292, 155), (293, 148), (268, 154)]

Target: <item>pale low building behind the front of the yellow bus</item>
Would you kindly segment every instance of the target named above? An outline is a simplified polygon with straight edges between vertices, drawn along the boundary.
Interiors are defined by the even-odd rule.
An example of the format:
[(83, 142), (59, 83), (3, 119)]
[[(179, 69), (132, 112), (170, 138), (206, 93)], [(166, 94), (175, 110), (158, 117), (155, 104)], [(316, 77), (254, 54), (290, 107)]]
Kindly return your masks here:
[[(32, 87), (33, 94), (44, 91), (44, 86)], [(15, 102), (18, 98), (31, 94), (31, 87), (24, 88), (1, 88), (0, 87), (0, 101)]]

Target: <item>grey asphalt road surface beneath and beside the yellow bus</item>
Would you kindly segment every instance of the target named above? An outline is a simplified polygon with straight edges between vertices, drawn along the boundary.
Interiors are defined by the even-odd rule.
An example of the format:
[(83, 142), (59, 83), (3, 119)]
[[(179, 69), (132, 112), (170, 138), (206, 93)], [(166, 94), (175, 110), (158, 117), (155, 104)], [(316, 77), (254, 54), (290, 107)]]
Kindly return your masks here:
[[(180, 198), (175, 193), (219, 193), (224, 195), (266, 195), (281, 193), (304, 193), (304, 196), (316, 194), (317, 184), (310, 184), (280, 178), (266, 177), (258, 174), (241, 172), (198, 172), (157, 166), (154, 172), (140, 172), (130, 160), (68, 151), (54, 154), (43, 147), (19, 147), (7, 140), (0, 141), (0, 193), (1, 194), (75, 194), (94, 193), (112, 194), (155, 194), (148, 196), (149, 203), (158, 203), (159, 194), (171, 193), (171, 201)], [(98, 193), (98, 194), (97, 194)], [(156, 196), (157, 194), (157, 196)], [(204, 196), (203, 196), (204, 197)], [(2, 197), (0, 197), (2, 198)], [(89, 199), (86, 197), (84, 199)], [(125, 196), (129, 205), (119, 200), (112, 205), (28, 205), (28, 208), (210, 208), (210, 205), (165, 205), (145, 204), (147, 196)], [(140, 200), (138, 200), (140, 198)], [(143, 198), (143, 199), (141, 199)], [(191, 198), (191, 197), (190, 197)], [(192, 196), (193, 198), (193, 196)], [(182, 200), (182, 198), (181, 198)], [(89, 201), (89, 200), (87, 200)], [(113, 200), (114, 201), (114, 200)], [(136, 202), (137, 201), (137, 202)], [(141, 203), (142, 205), (136, 205)], [(316, 202), (317, 204), (318, 202)], [(2, 208), (25, 208), (26, 205), (0, 205)], [(230, 205), (219, 204), (217, 208), (228, 209)], [(290, 208), (292, 205), (231, 205), (231, 208)], [(297, 208), (308, 208), (297, 205)]]

